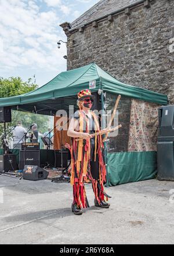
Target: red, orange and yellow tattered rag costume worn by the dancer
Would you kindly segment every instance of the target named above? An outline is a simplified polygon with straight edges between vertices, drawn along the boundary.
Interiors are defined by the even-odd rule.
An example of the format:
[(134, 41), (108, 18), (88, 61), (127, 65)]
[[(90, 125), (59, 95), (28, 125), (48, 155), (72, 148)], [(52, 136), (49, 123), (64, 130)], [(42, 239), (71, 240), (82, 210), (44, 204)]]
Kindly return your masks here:
[[(95, 132), (98, 132), (100, 131), (100, 127), (97, 117), (95, 113), (90, 113), (95, 123)], [(90, 133), (89, 119), (84, 111), (79, 111), (79, 125), (76, 131)], [(90, 161), (92, 155), (90, 154), (90, 139), (77, 141), (76, 138), (73, 138), (72, 140), (71, 184), (73, 185), (75, 201), (79, 207), (85, 208), (89, 206), (84, 187), (84, 182), (88, 182), (88, 180), (91, 180), (92, 182), (93, 191), (97, 201), (100, 203), (100, 201), (104, 200), (104, 196), (106, 197), (106, 200), (108, 200), (108, 195), (104, 192), (103, 188), (103, 183), (106, 182), (106, 166), (104, 163), (103, 148), (102, 136), (95, 135), (94, 161), (96, 161), (96, 154), (99, 159), (99, 180), (95, 180), (90, 173)]]

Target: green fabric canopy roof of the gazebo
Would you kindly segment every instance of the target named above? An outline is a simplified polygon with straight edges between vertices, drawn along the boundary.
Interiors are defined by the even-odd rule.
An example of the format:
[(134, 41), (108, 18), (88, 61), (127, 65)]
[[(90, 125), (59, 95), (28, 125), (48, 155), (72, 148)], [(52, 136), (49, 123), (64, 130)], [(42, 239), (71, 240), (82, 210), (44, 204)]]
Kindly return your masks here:
[(30, 93), (0, 98), (0, 106), (12, 106), (12, 109), (20, 111), (54, 115), (57, 109), (67, 109), (68, 105), (75, 104), (78, 91), (89, 88), (89, 82), (93, 80), (96, 81), (96, 86), (91, 90), (92, 92), (100, 88), (113, 94), (121, 94), (160, 105), (168, 104), (167, 95), (121, 83), (96, 63), (92, 63), (78, 69), (61, 72), (49, 83)]

